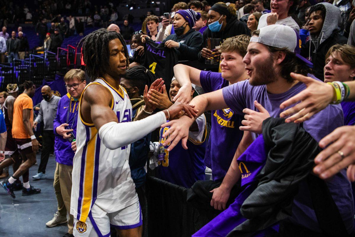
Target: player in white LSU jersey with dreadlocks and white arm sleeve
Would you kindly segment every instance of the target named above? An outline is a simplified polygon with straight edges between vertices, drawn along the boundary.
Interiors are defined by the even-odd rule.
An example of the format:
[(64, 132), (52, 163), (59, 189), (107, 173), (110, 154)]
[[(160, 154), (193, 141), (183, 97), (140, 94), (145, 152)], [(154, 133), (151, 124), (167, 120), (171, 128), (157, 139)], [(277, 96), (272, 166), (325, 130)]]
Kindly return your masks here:
[[(73, 235), (110, 236), (111, 225), (120, 237), (140, 237), (142, 217), (128, 164), (129, 144), (167, 119), (177, 117), (182, 110), (190, 117), (196, 116), (197, 111), (179, 103), (131, 122), (132, 105), (120, 86), (120, 78), (129, 65), (123, 37), (99, 29), (80, 44), (92, 82), (82, 93), (78, 114), (70, 207)], [(159, 86), (163, 85), (163, 81), (159, 82)]]

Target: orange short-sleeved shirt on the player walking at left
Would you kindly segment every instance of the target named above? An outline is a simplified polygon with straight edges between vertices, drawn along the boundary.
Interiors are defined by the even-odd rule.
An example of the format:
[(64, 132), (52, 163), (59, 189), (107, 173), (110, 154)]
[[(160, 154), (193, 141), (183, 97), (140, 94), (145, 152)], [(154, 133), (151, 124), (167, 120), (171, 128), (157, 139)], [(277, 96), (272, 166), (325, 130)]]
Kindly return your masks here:
[(22, 118), (23, 118), (23, 109), (31, 109), (29, 122), (33, 124), (33, 102), (32, 99), (25, 93), (19, 95), (15, 103), (13, 103), (13, 119), (12, 119), (12, 136), (13, 138), (31, 138), (27, 133)]

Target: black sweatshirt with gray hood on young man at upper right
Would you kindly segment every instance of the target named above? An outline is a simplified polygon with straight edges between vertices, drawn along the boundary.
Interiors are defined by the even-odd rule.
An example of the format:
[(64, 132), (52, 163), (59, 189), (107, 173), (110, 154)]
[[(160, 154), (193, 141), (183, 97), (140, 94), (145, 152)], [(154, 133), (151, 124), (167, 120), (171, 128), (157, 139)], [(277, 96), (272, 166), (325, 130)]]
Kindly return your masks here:
[(334, 44), (346, 44), (348, 40), (338, 33), (341, 20), (339, 8), (328, 2), (318, 4), (326, 8), (323, 27), (319, 36), (310, 35), (309, 44), (302, 47), (301, 55), (313, 63), (313, 75), (324, 81), (323, 68), (326, 65), (325, 58), (329, 48)]

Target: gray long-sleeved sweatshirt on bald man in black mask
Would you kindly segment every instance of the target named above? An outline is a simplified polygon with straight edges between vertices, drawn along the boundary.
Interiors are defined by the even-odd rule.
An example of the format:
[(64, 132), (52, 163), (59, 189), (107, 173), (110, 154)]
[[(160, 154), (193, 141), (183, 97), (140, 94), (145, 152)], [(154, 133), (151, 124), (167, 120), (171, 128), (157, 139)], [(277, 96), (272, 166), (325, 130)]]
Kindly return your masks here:
[(35, 122), (40, 123), (43, 121), (44, 130), (53, 130), (53, 121), (57, 114), (59, 100), (60, 97), (52, 95), (49, 101), (45, 101), (44, 99), (41, 101)]

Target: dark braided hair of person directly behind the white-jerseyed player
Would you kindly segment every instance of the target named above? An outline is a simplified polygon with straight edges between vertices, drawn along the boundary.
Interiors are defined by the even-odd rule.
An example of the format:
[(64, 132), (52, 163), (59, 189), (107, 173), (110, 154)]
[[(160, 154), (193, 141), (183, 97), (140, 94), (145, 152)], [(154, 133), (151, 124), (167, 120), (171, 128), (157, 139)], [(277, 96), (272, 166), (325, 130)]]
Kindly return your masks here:
[(140, 96), (143, 95), (144, 87), (148, 88), (155, 81), (153, 72), (143, 66), (134, 66), (129, 68), (126, 72), (126, 79), (129, 81), (131, 87), (137, 87)]

